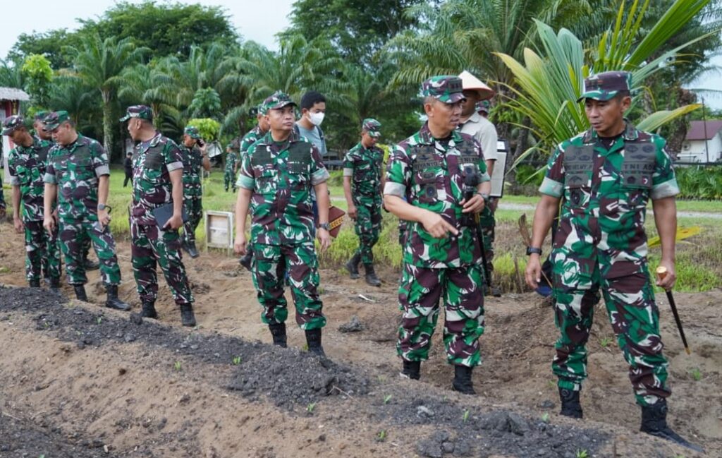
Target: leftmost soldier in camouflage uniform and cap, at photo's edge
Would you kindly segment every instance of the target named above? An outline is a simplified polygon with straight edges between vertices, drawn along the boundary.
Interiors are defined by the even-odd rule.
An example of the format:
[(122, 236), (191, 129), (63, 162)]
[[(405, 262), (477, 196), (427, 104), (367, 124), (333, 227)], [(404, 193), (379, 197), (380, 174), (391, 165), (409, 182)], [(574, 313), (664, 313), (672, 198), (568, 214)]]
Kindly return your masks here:
[(61, 275), (58, 231), (46, 233), (43, 228), (43, 178), (51, 143), (30, 135), (25, 120), (17, 115), (5, 119), (2, 135), (9, 136), (15, 144), (8, 156), (12, 216), (17, 233), (25, 233), (27, 281), (31, 288), (40, 288), (40, 275), (45, 264), (51, 290), (58, 292)]

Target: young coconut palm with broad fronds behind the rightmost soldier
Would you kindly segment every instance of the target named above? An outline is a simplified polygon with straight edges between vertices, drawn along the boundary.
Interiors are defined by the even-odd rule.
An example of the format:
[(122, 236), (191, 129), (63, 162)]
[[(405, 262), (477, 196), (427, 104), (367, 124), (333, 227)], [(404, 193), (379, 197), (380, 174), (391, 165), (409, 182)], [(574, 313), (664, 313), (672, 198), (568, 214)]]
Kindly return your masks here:
[[(552, 27), (536, 21), (541, 53), (526, 48), (523, 53), (525, 64), (513, 56), (497, 53), (515, 78), (513, 86), (507, 85), (516, 95), (510, 100), (510, 108), (531, 120), (540, 147), (549, 149), (573, 137), (589, 128), (583, 104), (576, 102), (588, 74), (618, 69), (630, 71), (633, 92), (640, 93), (645, 79), (659, 72), (663, 68), (661, 64), (676, 59), (677, 53), (691, 42), (661, 53), (656, 59), (651, 56), (708, 3), (709, 0), (676, 0), (669, 11), (641, 36), (641, 17), (649, 0), (641, 5), (635, 0), (629, 7), (622, 2), (614, 27), (601, 36), (590, 52), (585, 52), (582, 41), (569, 30), (554, 33)], [(638, 99), (635, 97), (635, 102)], [(657, 129), (697, 106), (685, 105), (673, 111), (651, 113), (637, 125), (640, 129)], [(523, 157), (518, 157), (517, 162)]]

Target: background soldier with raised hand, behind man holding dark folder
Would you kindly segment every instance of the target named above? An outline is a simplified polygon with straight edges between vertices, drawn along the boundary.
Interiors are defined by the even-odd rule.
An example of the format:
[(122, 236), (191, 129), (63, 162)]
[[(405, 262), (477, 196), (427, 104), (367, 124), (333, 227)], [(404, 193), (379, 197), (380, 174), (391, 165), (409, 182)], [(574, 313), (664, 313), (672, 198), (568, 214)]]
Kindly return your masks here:
[(183, 223), (183, 247), (191, 258), (197, 258), (196, 228), (203, 217), (201, 166), (204, 170), (211, 170), (211, 162), (197, 127), (186, 126), (183, 143), (179, 146), (183, 154), (183, 205), (188, 213), (188, 221)]

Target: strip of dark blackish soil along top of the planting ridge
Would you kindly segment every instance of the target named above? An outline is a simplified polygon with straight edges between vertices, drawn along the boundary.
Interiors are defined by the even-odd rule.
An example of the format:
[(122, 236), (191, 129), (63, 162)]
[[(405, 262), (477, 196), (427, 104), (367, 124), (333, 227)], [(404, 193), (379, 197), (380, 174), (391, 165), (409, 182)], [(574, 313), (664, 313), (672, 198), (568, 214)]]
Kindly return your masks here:
[[(425, 457), (479, 456), (494, 451), (518, 457), (567, 458), (579, 450), (592, 456), (607, 440), (600, 431), (550, 425), (510, 410), (484, 412), (473, 398), (466, 405), (464, 398), (450, 400), (426, 384), (390, 381), (381, 386), (372, 382), (373, 374), (365, 368), (349, 368), (295, 349), (220, 334), (189, 333), (136, 314), (118, 319), (116, 314), (103, 314), (100, 308), (69, 308), (61, 298), (43, 290), (0, 288), (0, 313), (4, 314), (0, 319), (29, 314), (34, 317), (35, 331), (52, 332), (81, 349), (110, 342), (140, 342), (199, 363), (235, 365), (230, 380), (215, 383), (259, 402), (269, 399), (302, 415), (312, 415), (321, 399), (338, 396), (354, 402), (359, 415), (393, 425), (394, 430), (431, 426), (435, 433), (416, 443), (417, 453)], [(377, 398), (382, 396), (385, 400), (379, 402)], [(385, 440), (385, 434), (380, 433), (378, 439)], [(479, 439), (469, 441), (472, 437)]]

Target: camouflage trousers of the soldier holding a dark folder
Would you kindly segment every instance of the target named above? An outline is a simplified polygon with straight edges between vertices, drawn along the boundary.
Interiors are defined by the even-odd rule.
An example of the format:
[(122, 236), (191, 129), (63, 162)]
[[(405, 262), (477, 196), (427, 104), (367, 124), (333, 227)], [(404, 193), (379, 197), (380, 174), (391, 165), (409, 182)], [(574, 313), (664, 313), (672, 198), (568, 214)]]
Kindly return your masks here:
[(141, 301), (155, 302), (158, 295), (156, 264), (160, 264), (175, 303), (193, 303), (193, 293), (183, 266), (178, 230), (158, 230), (157, 225), (140, 225), (131, 219), (131, 254), (133, 275)]

